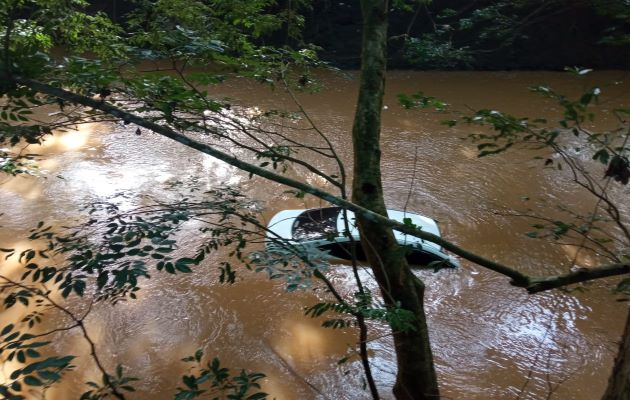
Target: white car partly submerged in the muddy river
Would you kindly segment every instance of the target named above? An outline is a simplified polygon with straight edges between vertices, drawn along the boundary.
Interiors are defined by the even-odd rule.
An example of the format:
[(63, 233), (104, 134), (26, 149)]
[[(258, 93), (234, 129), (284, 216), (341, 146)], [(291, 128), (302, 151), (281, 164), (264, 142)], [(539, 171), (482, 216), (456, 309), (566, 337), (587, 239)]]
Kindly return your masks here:
[[(440, 236), (437, 222), (431, 218), (409, 212), (387, 210), (389, 218), (399, 222), (411, 222), (425, 232)], [(357, 242), (356, 255), (361, 261), (365, 253), (359, 243), (359, 230), (354, 213), (347, 212), (352, 239)], [(350, 260), (351, 242), (344, 235), (345, 221), (341, 207), (313, 208), (307, 210), (284, 210), (271, 218), (267, 225), (267, 247), (279, 242), (299, 244), (306, 248), (316, 248), (330, 257)], [(403, 246), (407, 261), (411, 265), (440, 265), (458, 267), (459, 263), (446, 254), (437, 244), (417, 237), (394, 231), (398, 244)]]

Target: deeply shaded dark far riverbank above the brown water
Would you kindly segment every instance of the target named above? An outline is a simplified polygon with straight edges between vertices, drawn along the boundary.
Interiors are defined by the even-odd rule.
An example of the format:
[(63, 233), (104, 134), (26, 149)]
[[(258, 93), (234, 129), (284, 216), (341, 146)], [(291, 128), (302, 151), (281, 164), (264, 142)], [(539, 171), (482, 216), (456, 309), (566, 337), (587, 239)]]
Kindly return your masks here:
[[(93, 0), (91, 3), (92, 10), (106, 12), (119, 22), (134, 7), (133, 2), (121, 0)], [(630, 39), (626, 39), (625, 44), (611, 43), (614, 40), (607, 39), (611, 31), (617, 36), (630, 37), (630, 6), (623, 0), (521, 0), (513, 3), (442, 0), (413, 5), (408, 11), (392, 11), (389, 68), (560, 70), (566, 66), (581, 66), (630, 69)], [(512, 22), (503, 21), (513, 29), (512, 34), (497, 34), (501, 29), (500, 18), (487, 18), (485, 22), (480, 18), (483, 12), (492, 12), (495, 8), (513, 18)], [(358, 1), (313, 0), (305, 17), (304, 41), (322, 47), (322, 59), (341, 68), (359, 67), (361, 10)], [(478, 24), (462, 29), (462, 20)], [(464, 49), (467, 58), (453, 63), (432, 62), (430, 56), (421, 54), (411, 60), (406, 56), (409, 52), (406, 38), (410, 37), (438, 38), (453, 49)], [(282, 45), (285, 35), (267, 40)], [(449, 47), (446, 49), (447, 57), (448, 53), (455, 52), (449, 51)]]

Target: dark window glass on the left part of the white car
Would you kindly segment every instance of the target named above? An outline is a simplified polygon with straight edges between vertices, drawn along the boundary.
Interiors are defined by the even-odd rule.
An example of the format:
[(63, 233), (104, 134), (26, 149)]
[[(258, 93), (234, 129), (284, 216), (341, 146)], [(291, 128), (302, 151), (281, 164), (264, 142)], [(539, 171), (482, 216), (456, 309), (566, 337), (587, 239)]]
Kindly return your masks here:
[(337, 217), (341, 208), (327, 207), (306, 210), (293, 222), (293, 239), (321, 239), (337, 236)]

